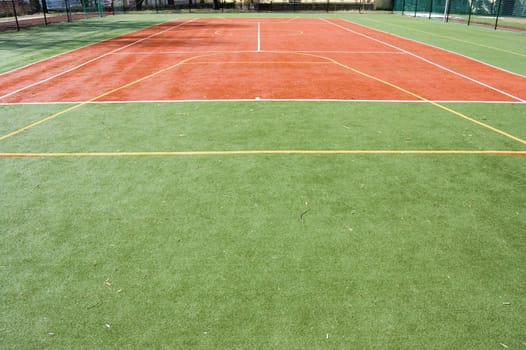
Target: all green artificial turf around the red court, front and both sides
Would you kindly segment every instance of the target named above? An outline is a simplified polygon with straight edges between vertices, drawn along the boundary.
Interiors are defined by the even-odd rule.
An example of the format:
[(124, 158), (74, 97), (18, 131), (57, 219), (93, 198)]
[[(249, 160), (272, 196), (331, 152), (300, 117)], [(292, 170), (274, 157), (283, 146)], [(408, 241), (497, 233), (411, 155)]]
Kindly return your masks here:
[[(157, 19), (40, 30), (59, 52), (82, 23)], [(502, 51), (524, 35), (439, 25), (497, 35), (499, 50), (448, 48), (524, 74), (526, 45)], [(526, 138), (523, 103), (443, 105)], [(0, 105), (0, 136), (68, 106)], [(119, 155), (342, 149), (429, 153)], [(114, 153), (0, 157), (1, 347), (520, 349), (525, 157), (440, 150), (526, 145), (423, 102), (90, 103), (6, 138), (0, 153)]]

